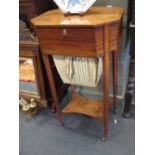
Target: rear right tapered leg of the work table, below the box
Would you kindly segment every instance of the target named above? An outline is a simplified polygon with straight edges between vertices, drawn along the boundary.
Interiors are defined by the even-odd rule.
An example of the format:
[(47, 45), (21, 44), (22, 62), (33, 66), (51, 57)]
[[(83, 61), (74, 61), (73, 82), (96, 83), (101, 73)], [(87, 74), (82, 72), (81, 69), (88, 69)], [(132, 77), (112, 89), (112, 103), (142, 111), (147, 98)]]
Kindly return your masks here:
[(113, 64), (113, 110), (116, 112), (117, 107), (117, 72), (118, 72), (118, 51), (115, 50), (112, 52), (112, 64)]

